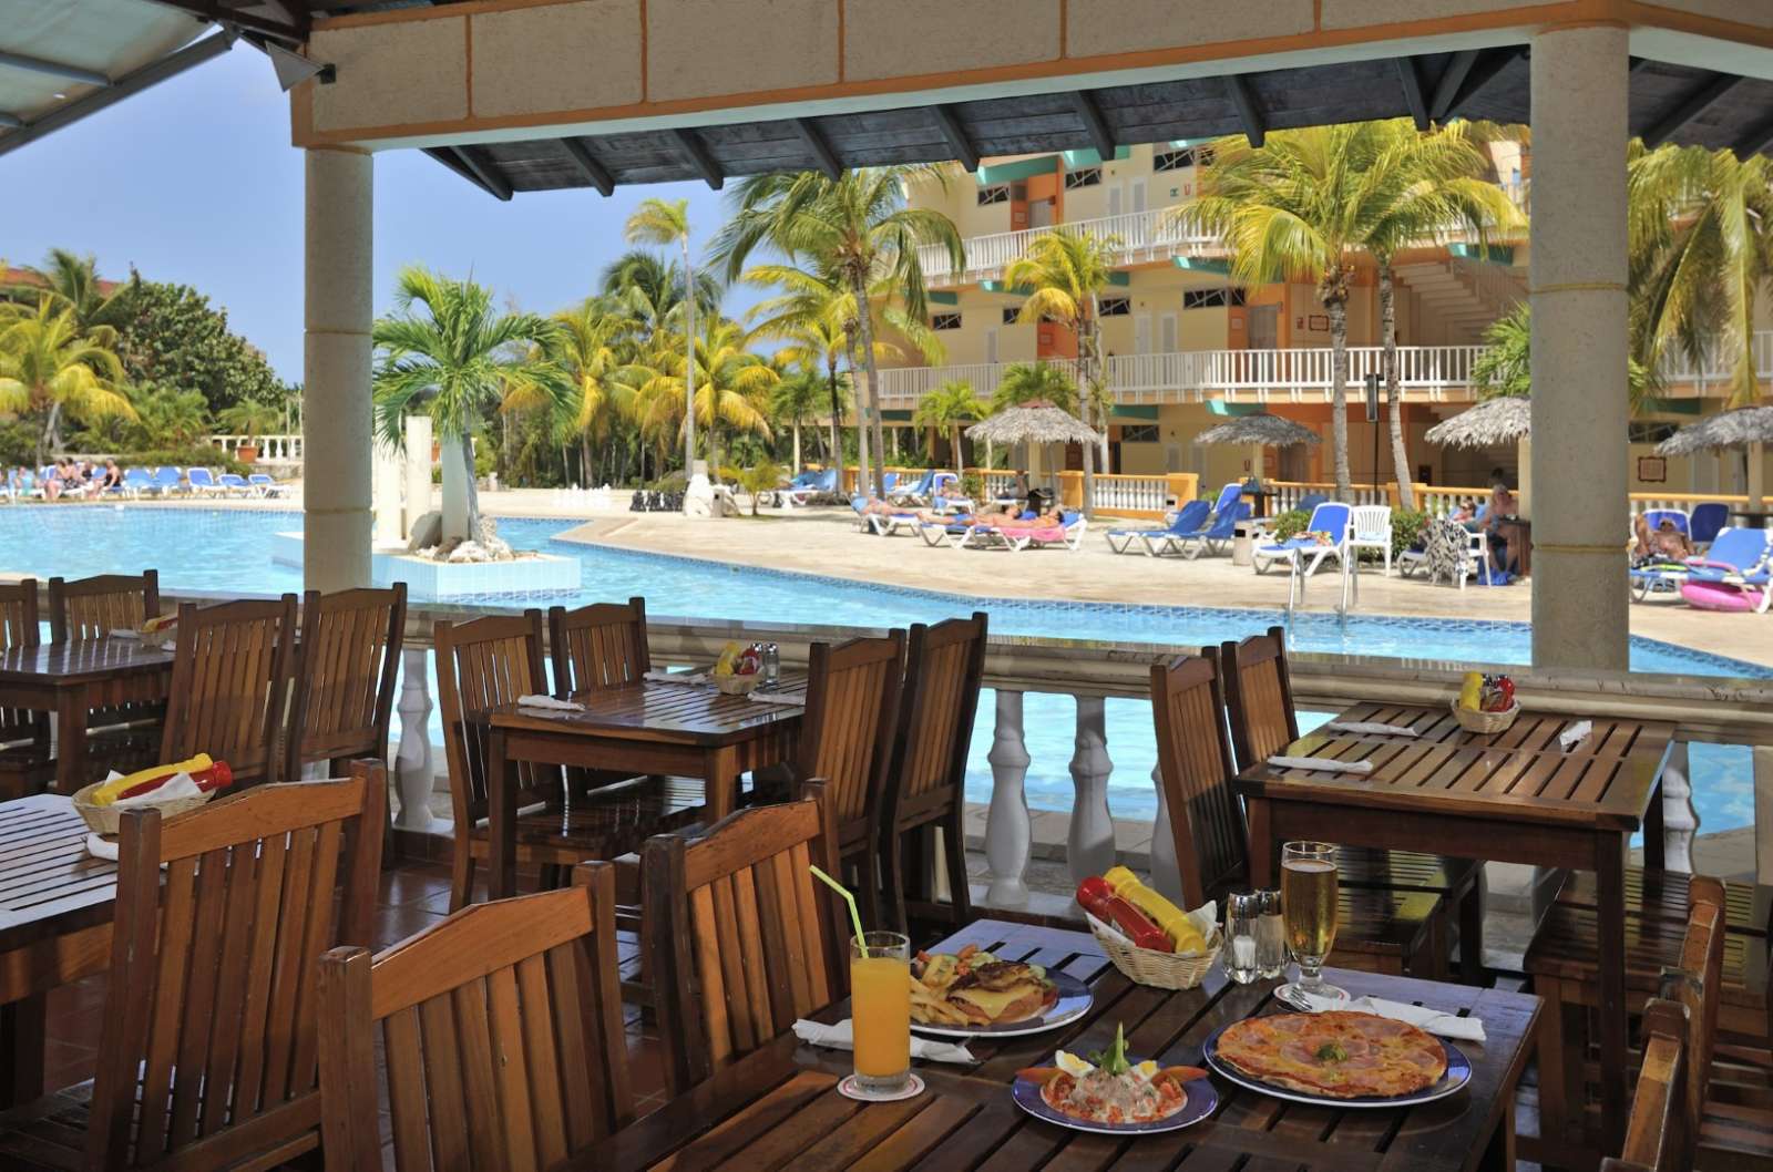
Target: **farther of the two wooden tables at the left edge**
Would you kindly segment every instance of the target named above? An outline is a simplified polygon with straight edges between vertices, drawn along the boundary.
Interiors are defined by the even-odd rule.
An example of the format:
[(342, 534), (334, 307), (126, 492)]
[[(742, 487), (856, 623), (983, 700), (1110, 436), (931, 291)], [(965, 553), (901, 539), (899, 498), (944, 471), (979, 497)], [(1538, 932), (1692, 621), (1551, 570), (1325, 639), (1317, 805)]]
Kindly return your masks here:
[(55, 715), (55, 787), (87, 782), (87, 718), (122, 704), (158, 704), (172, 688), (172, 647), (133, 638), (76, 638), (0, 651), (0, 709)]

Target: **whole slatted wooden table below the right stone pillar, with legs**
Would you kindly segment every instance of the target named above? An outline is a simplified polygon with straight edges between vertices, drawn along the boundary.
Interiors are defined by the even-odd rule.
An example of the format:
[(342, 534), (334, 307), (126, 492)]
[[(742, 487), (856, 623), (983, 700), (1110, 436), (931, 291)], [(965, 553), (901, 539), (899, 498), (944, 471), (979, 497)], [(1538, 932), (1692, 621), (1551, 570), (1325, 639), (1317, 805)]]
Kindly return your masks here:
[(1445, 707), (1356, 704), (1337, 722), (1410, 727), (1406, 736), (1317, 729), (1287, 757), (1367, 761), (1369, 773), (1259, 762), (1234, 782), (1250, 823), (1250, 881), (1275, 885), (1280, 844), (1431, 851), (1456, 858), (1569, 867), (1596, 874), (1605, 1142), (1624, 1138), (1626, 846), (1644, 830), (1644, 862), (1663, 865), (1661, 770), (1674, 725), (1587, 718), (1569, 752), (1558, 734), (1580, 716), (1521, 713), (1493, 736), (1466, 732)]

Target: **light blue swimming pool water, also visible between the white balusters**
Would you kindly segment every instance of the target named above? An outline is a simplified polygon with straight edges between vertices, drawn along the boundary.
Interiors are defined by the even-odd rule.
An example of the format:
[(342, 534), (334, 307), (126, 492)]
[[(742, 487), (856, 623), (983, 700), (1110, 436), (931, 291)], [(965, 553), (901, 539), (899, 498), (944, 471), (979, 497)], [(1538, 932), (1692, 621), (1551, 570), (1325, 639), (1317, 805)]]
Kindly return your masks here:
[[(167, 590), (280, 594), (301, 589), (301, 573), (269, 559), (271, 534), (300, 528), (293, 512), (154, 507), (16, 507), (0, 509), (0, 571), (37, 576), (83, 576), (160, 569)], [(996, 635), (1216, 644), (1262, 631), (1277, 622), (1273, 610), (1183, 605), (1183, 598), (1145, 605), (1069, 603), (1037, 599), (977, 599), (920, 590), (917, 560), (894, 583), (863, 585), (796, 573), (716, 566), (651, 553), (601, 550), (553, 541), (574, 521), (502, 520), (500, 534), (518, 548), (574, 557), (582, 566), (580, 590), (530, 596), (528, 605), (576, 605), (644, 594), (656, 615), (732, 619), (754, 622), (824, 622), (839, 626), (904, 626), (936, 622), (972, 610), (991, 612)], [(1016, 562), (1039, 573), (1039, 559)], [(1002, 564), (995, 560), (993, 564)], [(1177, 592), (1181, 594), (1181, 592)], [(488, 599), (512, 605), (519, 599)], [(1188, 599), (1200, 601), (1200, 599)], [(1528, 663), (1530, 628), (1525, 622), (1461, 619), (1394, 619), (1383, 615), (1300, 615), (1291, 624), (1294, 651), (1321, 651), (1404, 660)], [(1688, 651), (1649, 638), (1631, 640), (1631, 668), (1691, 676), (1773, 679), (1773, 668)], [(436, 695), (433, 691), (433, 695)], [(1301, 713), (1301, 723), (1328, 715)], [(1028, 695), (1025, 707), (1028, 803), (1069, 810), (1073, 785), (1074, 716), (1069, 697)], [(968, 796), (989, 798), (993, 699), (980, 697), (968, 771)], [(1147, 819), (1156, 810), (1151, 770), (1156, 748), (1151, 706), (1140, 700), (1108, 702), (1108, 755), (1113, 759), (1110, 810), (1115, 817)], [(1725, 830), (1753, 821), (1753, 784), (1748, 750), (1695, 745), (1691, 771), (1702, 830)]]

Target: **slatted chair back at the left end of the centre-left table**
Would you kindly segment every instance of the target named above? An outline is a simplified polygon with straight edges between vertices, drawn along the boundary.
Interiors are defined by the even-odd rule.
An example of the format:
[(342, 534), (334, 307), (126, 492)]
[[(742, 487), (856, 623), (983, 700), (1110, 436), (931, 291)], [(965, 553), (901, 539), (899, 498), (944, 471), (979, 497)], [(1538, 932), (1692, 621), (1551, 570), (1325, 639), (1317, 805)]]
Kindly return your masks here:
[[(443, 704), (443, 748), (449, 796), (457, 826), (488, 816), (488, 709), (548, 691), (543, 661), (543, 612), (489, 615), (472, 622), (438, 622), (438, 693)], [(527, 778), (523, 778), (527, 780)]]

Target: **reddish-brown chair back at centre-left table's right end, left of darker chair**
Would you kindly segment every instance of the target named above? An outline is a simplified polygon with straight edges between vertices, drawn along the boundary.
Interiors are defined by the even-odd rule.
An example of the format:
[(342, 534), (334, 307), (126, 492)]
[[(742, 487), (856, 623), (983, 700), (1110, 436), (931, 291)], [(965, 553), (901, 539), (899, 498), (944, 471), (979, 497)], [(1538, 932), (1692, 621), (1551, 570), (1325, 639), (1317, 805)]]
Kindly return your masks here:
[(794, 777), (824, 778), (844, 839), (865, 833), (860, 828), (886, 793), (902, 684), (904, 631), (835, 647), (812, 644)]

